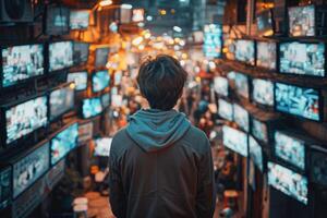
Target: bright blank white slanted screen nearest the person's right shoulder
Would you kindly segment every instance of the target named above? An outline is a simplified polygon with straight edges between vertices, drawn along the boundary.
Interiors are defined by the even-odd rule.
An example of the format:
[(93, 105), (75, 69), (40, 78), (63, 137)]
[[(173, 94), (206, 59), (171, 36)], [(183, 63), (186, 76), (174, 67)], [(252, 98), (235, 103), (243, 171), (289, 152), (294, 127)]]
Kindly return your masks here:
[(228, 125), (222, 126), (222, 142), (229, 149), (247, 157), (247, 134)]

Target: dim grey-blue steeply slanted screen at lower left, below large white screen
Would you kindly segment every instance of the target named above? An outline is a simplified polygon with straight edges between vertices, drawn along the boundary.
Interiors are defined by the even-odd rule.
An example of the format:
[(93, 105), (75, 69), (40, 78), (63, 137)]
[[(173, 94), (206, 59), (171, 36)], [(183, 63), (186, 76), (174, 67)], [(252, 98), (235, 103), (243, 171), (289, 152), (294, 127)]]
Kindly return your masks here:
[(50, 167), (49, 142), (13, 164), (13, 198), (27, 190)]

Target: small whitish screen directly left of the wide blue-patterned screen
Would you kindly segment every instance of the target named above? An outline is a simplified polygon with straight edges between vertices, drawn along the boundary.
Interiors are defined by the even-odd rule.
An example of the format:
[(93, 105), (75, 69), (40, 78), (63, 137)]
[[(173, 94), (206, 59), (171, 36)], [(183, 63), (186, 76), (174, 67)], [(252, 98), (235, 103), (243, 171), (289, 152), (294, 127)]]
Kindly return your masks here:
[(252, 80), (252, 98), (264, 106), (274, 106), (274, 83), (266, 80)]

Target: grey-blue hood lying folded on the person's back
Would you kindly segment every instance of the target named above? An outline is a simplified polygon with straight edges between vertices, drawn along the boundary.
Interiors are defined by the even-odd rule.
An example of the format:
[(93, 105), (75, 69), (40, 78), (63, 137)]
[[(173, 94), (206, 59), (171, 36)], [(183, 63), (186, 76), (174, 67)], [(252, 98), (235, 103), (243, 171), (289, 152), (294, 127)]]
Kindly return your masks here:
[(156, 152), (180, 140), (191, 126), (175, 110), (142, 109), (129, 118), (126, 132), (145, 152)]

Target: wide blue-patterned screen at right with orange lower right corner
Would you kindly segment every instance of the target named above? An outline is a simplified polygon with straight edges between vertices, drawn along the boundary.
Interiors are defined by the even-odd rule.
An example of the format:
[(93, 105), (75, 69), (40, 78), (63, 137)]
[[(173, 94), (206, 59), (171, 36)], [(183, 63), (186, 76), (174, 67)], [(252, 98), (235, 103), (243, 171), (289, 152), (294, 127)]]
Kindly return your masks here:
[(320, 95), (317, 89), (276, 83), (275, 97), (278, 111), (320, 120)]

